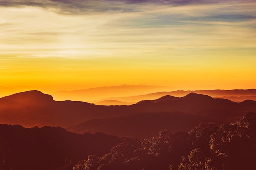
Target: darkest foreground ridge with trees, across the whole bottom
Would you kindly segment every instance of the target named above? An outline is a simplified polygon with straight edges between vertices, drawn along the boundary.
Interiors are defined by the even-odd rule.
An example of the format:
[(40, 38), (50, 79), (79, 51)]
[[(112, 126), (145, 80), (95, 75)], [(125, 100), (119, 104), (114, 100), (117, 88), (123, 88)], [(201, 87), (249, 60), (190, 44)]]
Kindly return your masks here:
[[(256, 166), (256, 113), (143, 140), (0, 125), (1, 170), (241, 170)], [(112, 148), (112, 149), (111, 149)]]

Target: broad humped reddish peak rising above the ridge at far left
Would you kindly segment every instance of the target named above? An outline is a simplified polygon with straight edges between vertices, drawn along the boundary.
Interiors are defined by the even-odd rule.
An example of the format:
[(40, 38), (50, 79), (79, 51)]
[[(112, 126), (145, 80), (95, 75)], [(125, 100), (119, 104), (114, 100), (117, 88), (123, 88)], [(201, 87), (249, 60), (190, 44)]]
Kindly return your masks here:
[(0, 98), (0, 101), (7, 103), (22, 103), (22, 104), (35, 104), (35, 103), (49, 103), (53, 101), (53, 97), (49, 94), (44, 94), (38, 90), (30, 90), (26, 92), (20, 92)]

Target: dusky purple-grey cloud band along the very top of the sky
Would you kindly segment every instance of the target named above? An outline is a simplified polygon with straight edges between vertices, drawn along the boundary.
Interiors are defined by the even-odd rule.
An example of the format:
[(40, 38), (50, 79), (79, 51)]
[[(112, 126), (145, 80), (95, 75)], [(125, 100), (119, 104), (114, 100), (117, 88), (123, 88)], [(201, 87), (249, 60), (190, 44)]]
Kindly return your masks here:
[[(0, 1), (2, 7), (41, 7), (63, 14), (88, 14), (93, 12), (136, 12), (140, 5), (186, 6), (218, 4), (222, 0), (8, 0)], [(253, 0), (226, 0), (225, 3), (247, 3)], [(138, 8), (139, 7), (139, 8)]]

